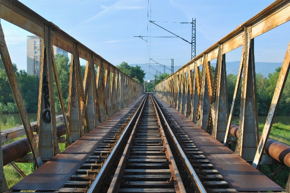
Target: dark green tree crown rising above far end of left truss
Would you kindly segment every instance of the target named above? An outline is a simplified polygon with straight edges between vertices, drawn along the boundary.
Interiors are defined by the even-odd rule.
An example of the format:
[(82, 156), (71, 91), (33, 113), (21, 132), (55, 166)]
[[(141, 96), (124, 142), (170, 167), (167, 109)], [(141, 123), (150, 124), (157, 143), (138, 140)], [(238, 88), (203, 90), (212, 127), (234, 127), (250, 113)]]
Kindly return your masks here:
[(140, 66), (130, 66), (127, 62), (123, 61), (122, 63), (120, 63), (120, 65), (117, 65), (117, 68), (119, 68), (123, 73), (129, 75), (132, 78), (135, 78), (136, 76), (139, 80), (137, 82), (139, 82), (140, 84), (144, 83), (145, 73), (144, 70), (141, 70)]

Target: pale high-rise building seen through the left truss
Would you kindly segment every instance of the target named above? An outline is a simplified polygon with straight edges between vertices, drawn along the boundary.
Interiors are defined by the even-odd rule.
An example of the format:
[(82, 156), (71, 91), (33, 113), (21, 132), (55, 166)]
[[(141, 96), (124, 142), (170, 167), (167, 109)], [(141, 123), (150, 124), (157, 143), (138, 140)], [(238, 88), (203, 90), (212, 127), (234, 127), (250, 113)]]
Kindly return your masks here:
[[(42, 39), (36, 35), (27, 36), (27, 74), (39, 75)], [(53, 54), (68, 56), (68, 52), (53, 45)]]

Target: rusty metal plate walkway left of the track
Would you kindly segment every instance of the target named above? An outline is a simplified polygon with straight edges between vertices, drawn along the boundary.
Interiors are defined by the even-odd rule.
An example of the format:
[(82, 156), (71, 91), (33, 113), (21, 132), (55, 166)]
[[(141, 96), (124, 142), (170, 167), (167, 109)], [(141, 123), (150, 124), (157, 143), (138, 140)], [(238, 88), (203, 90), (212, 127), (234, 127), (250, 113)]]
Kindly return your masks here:
[(23, 178), (16, 185), (10, 188), (12, 191), (36, 190), (37, 191), (57, 191), (85, 162), (88, 156), (103, 142), (112, 129), (117, 126), (132, 107), (142, 99), (139, 97), (129, 107), (121, 109), (107, 121), (93, 129), (87, 135), (75, 141), (72, 145), (54, 156), (47, 163), (44, 163), (32, 174)]

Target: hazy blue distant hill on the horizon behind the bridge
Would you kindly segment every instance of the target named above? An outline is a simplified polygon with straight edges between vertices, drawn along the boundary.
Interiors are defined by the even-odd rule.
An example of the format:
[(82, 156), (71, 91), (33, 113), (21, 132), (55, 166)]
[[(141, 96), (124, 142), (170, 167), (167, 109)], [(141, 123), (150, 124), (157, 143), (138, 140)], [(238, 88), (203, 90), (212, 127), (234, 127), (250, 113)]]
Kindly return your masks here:
[[(160, 71), (161, 73), (163, 73), (163, 67), (161, 67), (160, 65), (152, 65), (152, 68), (150, 68), (149, 71), (149, 64), (130, 64), (130, 66), (140, 66), (142, 70), (145, 71), (146, 77), (145, 79), (150, 78), (149, 76), (152, 77), (152, 75), (149, 75), (148, 72), (150, 72), (150, 74), (156, 74), (156, 70)], [(216, 64), (211, 64), (212, 66), (216, 66)], [(268, 77), (269, 73), (273, 73), (275, 72), (275, 69), (279, 66), (282, 66), (282, 62), (255, 62), (255, 66), (256, 66), (256, 73), (261, 73), (263, 74), (263, 76)], [(171, 69), (171, 66), (166, 66), (167, 68)], [(182, 66), (174, 66), (174, 72), (176, 72), (179, 68), (181, 68)], [(171, 71), (169, 69), (165, 69), (166, 73), (171, 73)], [(226, 62), (226, 73), (227, 74), (238, 74), (239, 71), (239, 61), (231, 61), (231, 62)], [(158, 72), (159, 74), (159, 72)]]

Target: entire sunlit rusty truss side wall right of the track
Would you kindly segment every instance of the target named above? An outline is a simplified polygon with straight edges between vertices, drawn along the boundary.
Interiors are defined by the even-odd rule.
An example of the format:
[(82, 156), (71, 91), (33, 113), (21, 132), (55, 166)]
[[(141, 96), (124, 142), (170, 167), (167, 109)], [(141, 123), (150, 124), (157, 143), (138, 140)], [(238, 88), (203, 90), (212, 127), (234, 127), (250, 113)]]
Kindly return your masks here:
[[(281, 97), (285, 81), (287, 79), (290, 59), (289, 48), (283, 62), (282, 70), (277, 82), (277, 87), (274, 92), (272, 104), (270, 106), (269, 115), (265, 123), (263, 137), (259, 142), (258, 137), (258, 122), (257, 122), (257, 99), (256, 99), (256, 71), (255, 71), (255, 54), (254, 54), (254, 38), (258, 35), (272, 30), (273, 28), (290, 20), (290, 1), (289, 0), (276, 0), (266, 9), (255, 15), (250, 20), (238, 26), (235, 30), (230, 32), (224, 38), (219, 40), (216, 44), (207, 48), (204, 52), (196, 58), (190, 60), (186, 65), (182, 66), (176, 73), (171, 74), (165, 80), (161, 81), (155, 86), (156, 95), (160, 98), (171, 102), (165, 97), (168, 95), (173, 96), (172, 107), (184, 114), (184, 95), (190, 96), (190, 105), (198, 101), (197, 109), (194, 112), (186, 114), (189, 119), (196, 119), (196, 126), (205, 129), (209, 134), (212, 134), (219, 141), (225, 145), (228, 140), (230, 123), (232, 120), (233, 112), (235, 110), (236, 98), (238, 94), (239, 84), (241, 82), (241, 104), (240, 104), (240, 119), (239, 119), (239, 133), (238, 145), (236, 154), (249, 162), (253, 162), (254, 167), (259, 166), (262, 154), (265, 148), (265, 141), (271, 131), (272, 121), (277, 109), (279, 99)], [(233, 103), (230, 114), (228, 113), (227, 104), (227, 85), (226, 85), (226, 71), (225, 71), (225, 53), (243, 45), (241, 61), (239, 65), (238, 78), (234, 92)], [(217, 59), (216, 72), (214, 80), (212, 80), (210, 65), (206, 61)], [(203, 72), (200, 76), (199, 67), (203, 65)], [(191, 81), (189, 78), (184, 81), (184, 72), (191, 71), (196, 75), (196, 89), (198, 99), (193, 100), (195, 95), (194, 88), (188, 89), (189, 93), (184, 92)], [(207, 80), (207, 81), (205, 81)], [(240, 81), (242, 80), (242, 81)], [(172, 87), (167, 82), (171, 81)], [(188, 82), (189, 81), (189, 82)], [(205, 97), (209, 95), (210, 111), (208, 119), (203, 118), (207, 116), (204, 106)], [(193, 100), (193, 101), (192, 101)], [(186, 101), (186, 103), (188, 103)], [(207, 112), (206, 112), (207, 113)], [(193, 118), (193, 115), (196, 118)], [(205, 124), (203, 122), (207, 122)], [(213, 127), (213, 129), (212, 129)], [(256, 156), (255, 156), (256, 154)]]

